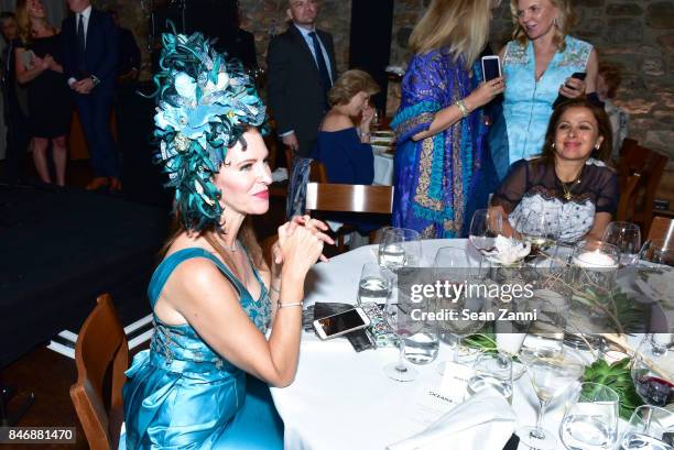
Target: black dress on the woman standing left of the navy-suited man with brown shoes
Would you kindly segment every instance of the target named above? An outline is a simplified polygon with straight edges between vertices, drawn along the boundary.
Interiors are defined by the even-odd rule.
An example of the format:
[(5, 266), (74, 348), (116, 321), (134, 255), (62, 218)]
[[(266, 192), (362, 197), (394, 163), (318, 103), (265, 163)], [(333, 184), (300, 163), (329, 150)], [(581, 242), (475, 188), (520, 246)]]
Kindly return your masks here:
[[(40, 37), (24, 46), (43, 58), (51, 55), (63, 64), (61, 34)], [(29, 127), (35, 138), (57, 138), (68, 133), (73, 98), (64, 74), (46, 69), (28, 83)]]

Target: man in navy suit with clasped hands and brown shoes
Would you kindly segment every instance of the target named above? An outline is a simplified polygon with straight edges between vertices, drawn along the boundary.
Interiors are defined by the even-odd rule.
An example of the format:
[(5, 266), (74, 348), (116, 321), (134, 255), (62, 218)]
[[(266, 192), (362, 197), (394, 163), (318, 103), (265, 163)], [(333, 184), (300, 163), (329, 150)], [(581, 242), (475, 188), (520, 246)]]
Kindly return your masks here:
[(67, 0), (75, 14), (63, 21), (64, 72), (73, 89), (89, 149), (94, 180), (87, 189), (119, 190), (119, 163), (110, 133), (117, 75), (117, 26), (89, 0)]

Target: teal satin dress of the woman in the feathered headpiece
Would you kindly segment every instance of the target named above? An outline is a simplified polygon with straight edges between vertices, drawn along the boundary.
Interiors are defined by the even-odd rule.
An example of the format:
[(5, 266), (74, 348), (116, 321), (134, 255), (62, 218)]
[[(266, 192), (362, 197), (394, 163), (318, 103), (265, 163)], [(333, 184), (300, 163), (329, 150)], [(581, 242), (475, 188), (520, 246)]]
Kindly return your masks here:
[[(152, 308), (166, 279), (183, 261), (205, 257), (240, 294), (240, 304), (260, 332), (271, 317), (269, 296), (253, 299), (217, 257), (185, 249), (166, 257), (148, 289)], [(150, 350), (127, 371), (123, 387), (127, 449), (283, 449), (283, 422), (269, 387), (216, 353), (189, 325), (168, 326), (155, 317)]]

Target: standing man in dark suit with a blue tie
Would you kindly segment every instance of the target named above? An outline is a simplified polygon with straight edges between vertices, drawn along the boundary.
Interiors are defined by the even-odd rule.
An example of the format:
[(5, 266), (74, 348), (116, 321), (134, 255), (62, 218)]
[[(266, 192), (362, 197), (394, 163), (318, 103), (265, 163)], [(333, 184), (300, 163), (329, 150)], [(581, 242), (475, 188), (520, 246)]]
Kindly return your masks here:
[(337, 78), (333, 36), (316, 30), (317, 0), (290, 0), (292, 24), (268, 52), (268, 102), (283, 144), (308, 156)]

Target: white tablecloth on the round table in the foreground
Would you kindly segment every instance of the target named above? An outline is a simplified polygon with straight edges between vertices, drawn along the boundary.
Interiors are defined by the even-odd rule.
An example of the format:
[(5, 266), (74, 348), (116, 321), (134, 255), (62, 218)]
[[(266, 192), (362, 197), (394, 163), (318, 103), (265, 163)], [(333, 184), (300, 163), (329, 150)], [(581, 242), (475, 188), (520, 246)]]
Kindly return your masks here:
[[(448, 245), (466, 248), (467, 241), (423, 241), (424, 259), (433, 261), (437, 249)], [(468, 246), (469, 252), (475, 251)], [(317, 264), (306, 281), (307, 303), (355, 303), (362, 264), (376, 261), (373, 249), (362, 246)], [(323, 342), (313, 333), (303, 333), (295, 382), (286, 388), (271, 389), (285, 424), (285, 448), (383, 450), (423, 430), (425, 425), (411, 413), (420, 389), (439, 385), (436, 366), (452, 359), (452, 350), (441, 344), (438, 358), (428, 365), (415, 366), (420, 377), (409, 383), (392, 381), (382, 370), (396, 358), (396, 349), (356, 353), (345, 339)], [(519, 425), (534, 425), (539, 403), (526, 374), (514, 388), (512, 406)], [(562, 402), (556, 400), (545, 416), (544, 426), (555, 433), (564, 414)], [(452, 448), (460, 444), (455, 442)]]

